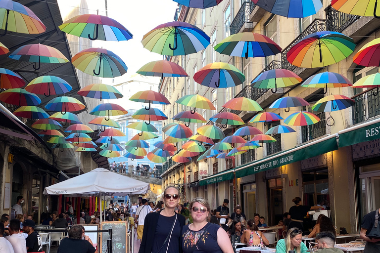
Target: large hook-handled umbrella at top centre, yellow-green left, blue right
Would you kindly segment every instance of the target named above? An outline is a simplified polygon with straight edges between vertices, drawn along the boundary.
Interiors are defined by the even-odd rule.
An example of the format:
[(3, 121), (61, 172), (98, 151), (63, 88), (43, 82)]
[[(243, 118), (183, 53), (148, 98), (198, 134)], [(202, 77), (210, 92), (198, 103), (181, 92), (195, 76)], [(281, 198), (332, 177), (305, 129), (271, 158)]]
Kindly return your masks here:
[(210, 44), (210, 37), (196, 26), (174, 21), (157, 26), (145, 34), (141, 42), (151, 52), (187, 55), (205, 49)]

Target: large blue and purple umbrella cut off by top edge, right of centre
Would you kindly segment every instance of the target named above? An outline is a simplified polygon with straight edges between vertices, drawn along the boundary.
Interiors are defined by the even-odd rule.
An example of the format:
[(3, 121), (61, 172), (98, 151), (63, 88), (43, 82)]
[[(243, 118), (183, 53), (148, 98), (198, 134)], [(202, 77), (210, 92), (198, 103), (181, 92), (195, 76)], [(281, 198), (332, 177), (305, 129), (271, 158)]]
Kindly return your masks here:
[(252, 0), (266, 11), (288, 18), (304, 18), (320, 10), (320, 0)]

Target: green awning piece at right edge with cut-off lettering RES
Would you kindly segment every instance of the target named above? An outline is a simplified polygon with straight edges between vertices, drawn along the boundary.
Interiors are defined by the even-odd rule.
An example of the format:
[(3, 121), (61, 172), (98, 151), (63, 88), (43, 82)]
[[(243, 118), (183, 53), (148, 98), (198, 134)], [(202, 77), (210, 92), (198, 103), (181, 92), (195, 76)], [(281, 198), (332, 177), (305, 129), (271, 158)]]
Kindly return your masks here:
[(380, 138), (380, 119), (338, 131), (339, 148)]

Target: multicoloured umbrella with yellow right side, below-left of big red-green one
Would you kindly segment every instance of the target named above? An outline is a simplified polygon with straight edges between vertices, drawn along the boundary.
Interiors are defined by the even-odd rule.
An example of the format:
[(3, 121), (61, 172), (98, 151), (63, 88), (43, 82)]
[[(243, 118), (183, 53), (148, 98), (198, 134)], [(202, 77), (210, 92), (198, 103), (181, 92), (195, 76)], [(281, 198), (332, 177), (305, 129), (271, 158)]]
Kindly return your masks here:
[(252, 82), (254, 88), (272, 89), (273, 93), (277, 88), (288, 87), (302, 82), (302, 79), (287, 69), (272, 69), (258, 75)]

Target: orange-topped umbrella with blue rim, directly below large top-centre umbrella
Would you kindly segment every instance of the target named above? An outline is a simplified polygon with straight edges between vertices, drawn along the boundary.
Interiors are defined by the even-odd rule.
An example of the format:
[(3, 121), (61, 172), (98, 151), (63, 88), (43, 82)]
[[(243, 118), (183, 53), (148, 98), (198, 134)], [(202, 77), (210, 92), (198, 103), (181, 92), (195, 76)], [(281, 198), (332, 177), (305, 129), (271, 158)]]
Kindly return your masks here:
[(188, 73), (177, 63), (159, 60), (151, 61), (142, 66), (136, 73), (148, 77), (188, 77)]

